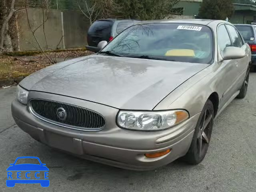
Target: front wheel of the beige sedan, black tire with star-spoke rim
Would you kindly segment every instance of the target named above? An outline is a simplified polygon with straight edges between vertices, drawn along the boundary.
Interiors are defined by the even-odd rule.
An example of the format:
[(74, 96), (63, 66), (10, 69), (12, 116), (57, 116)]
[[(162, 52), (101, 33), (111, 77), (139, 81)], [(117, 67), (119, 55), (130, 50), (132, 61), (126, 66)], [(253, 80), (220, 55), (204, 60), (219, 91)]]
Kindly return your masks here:
[(190, 148), (183, 158), (188, 164), (196, 165), (204, 160), (212, 135), (213, 120), (213, 104), (207, 100), (196, 124)]

